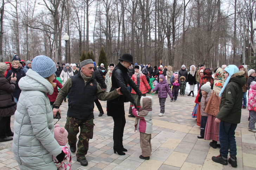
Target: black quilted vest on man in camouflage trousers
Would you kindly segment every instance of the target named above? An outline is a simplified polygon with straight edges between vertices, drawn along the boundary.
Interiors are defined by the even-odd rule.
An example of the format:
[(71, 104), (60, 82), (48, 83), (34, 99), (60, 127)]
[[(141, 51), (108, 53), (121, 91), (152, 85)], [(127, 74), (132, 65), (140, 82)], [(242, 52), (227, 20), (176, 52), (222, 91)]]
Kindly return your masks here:
[(69, 90), (69, 108), (67, 116), (79, 119), (93, 118), (94, 97), (97, 92), (97, 81), (94, 76), (84, 83), (80, 70), (78, 74), (71, 76), (72, 87)]

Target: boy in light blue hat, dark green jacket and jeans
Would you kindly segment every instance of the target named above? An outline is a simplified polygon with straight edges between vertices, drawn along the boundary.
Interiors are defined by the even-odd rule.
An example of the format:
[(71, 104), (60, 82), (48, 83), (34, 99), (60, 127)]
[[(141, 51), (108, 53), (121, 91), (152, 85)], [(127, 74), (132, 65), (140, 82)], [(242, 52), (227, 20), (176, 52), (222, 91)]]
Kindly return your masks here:
[[(219, 143), (220, 155), (213, 156), (212, 161), (237, 167), (237, 152), (235, 130), (237, 124), (240, 123), (242, 104), (243, 104), (243, 89), (246, 83), (244, 71), (237, 68), (235, 65), (229, 65), (225, 69), (225, 83), (219, 93), (221, 98), (219, 105), (219, 113), (216, 115), (215, 122), (219, 123)], [(229, 151), (230, 149), (230, 151)], [(230, 158), (228, 159), (228, 153)]]

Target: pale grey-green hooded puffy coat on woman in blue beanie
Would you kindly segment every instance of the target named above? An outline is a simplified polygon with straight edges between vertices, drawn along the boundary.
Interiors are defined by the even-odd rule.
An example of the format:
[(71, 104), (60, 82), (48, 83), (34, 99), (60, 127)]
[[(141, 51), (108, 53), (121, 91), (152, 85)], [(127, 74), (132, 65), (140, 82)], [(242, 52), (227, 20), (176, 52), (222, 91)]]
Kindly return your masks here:
[(13, 154), (21, 170), (57, 170), (52, 155), (62, 148), (54, 138), (49, 81), (29, 69), (19, 81), (22, 90), (15, 111)]

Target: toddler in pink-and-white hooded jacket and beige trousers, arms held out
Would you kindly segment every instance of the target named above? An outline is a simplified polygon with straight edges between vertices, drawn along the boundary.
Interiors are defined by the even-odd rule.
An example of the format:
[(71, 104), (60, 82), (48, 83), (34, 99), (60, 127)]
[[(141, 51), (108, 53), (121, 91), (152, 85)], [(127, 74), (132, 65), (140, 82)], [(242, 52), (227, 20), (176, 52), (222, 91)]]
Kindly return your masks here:
[(151, 134), (153, 132), (152, 122), (152, 106), (153, 98), (151, 96), (140, 98), (141, 109), (132, 107), (132, 113), (136, 117), (135, 119), (135, 130), (140, 132), (140, 147), (142, 150), (141, 159), (149, 159), (152, 147), (151, 147)]

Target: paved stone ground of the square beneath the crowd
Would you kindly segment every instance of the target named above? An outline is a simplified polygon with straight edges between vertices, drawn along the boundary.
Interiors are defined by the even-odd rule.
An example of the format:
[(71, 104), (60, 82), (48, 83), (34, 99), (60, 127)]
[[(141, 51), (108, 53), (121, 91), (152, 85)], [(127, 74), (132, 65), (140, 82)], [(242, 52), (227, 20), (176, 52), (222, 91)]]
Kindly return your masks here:
[[(159, 117), (160, 106), (157, 95), (153, 95), (153, 134), (152, 156), (150, 160), (139, 158), (141, 155), (139, 132), (134, 131), (135, 118), (127, 117), (124, 129), (123, 144), (128, 149), (126, 155), (120, 156), (113, 151), (113, 119), (105, 114), (98, 117), (95, 106), (94, 137), (90, 140), (88, 166), (81, 166), (76, 162), (76, 155), (72, 154), (72, 170), (228, 170), (233, 169), (230, 164), (221, 165), (212, 162), (211, 157), (219, 155), (219, 149), (209, 146), (210, 141), (198, 139), (200, 128), (196, 119), (191, 117), (195, 97), (178, 96), (176, 102), (166, 100), (165, 116)], [(101, 101), (103, 110), (106, 102)], [(129, 103), (125, 104), (128, 113)], [(68, 104), (63, 103), (60, 127), (65, 125)], [(242, 109), (241, 123), (236, 129), (237, 142), (237, 170), (256, 170), (256, 133), (248, 131), (248, 110)], [(13, 129), (14, 116), (11, 118)], [(0, 170), (19, 169), (12, 151), (12, 141), (0, 143)]]

